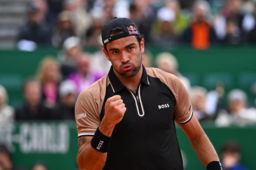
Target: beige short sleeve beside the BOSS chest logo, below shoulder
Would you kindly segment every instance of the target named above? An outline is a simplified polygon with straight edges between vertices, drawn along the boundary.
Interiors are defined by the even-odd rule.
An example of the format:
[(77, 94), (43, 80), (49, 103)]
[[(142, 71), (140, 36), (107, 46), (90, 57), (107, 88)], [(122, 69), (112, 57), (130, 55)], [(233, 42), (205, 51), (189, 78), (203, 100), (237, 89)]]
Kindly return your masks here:
[(183, 83), (177, 77), (175, 77), (173, 81), (173, 94), (176, 98), (176, 105), (174, 108), (174, 119), (176, 122), (186, 123), (191, 119), (193, 115), (192, 104), (190, 102), (188, 92)]

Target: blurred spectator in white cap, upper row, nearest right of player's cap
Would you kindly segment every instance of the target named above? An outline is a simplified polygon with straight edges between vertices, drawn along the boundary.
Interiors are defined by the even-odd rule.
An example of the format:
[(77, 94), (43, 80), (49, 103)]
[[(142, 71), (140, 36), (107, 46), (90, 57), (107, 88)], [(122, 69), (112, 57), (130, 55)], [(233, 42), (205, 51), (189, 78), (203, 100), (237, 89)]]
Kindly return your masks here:
[(153, 26), (153, 42), (155, 45), (170, 47), (177, 42), (177, 36), (173, 30), (175, 12), (167, 7), (162, 7), (157, 11), (157, 23)]

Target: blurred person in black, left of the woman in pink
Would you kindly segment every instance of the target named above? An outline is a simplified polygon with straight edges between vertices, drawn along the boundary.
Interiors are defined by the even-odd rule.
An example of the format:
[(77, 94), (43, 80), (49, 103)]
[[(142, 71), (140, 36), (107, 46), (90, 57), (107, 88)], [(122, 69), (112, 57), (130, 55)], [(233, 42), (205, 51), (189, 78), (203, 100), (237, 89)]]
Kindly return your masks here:
[(41, 102), (41, 85), (35, 79), (28, 79), (24, 82), (25, 102), (16, 108), (16, 120), (47, 120), (50, 110)]

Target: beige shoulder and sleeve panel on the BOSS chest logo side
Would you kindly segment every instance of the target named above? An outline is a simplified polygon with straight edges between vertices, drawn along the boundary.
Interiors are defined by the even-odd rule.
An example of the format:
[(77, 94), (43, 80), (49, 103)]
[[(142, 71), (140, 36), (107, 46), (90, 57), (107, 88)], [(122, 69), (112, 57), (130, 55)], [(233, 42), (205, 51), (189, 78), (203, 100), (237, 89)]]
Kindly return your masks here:
[(185, 123), (192, 116), (192, 105), (189, 99), (188, 92), (182, 82), (173, 74), (167, 73), (158, 68), (146, 68), (147, 74), (151, 77), (159, 78), (172, 91), (176, 105), (174, 108), (175, 121)]

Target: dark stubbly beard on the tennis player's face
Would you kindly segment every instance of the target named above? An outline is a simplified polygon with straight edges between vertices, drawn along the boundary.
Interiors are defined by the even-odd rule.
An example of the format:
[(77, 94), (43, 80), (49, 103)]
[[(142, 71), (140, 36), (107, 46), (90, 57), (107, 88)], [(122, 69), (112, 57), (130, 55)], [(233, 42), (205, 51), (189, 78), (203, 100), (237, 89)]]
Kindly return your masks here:
[[(130, 62), (127, 62), (127, 63), (124, 63), (122, 65), (120, 65), (119, 67), (119, 70), (122, 69), (122, 67), (126, 64), (129, 64), (129, 65), (132, 65), (132, 67), (134, 68), (133, 70), (130, 70), (130, 71), (127, 71), (127, 72), (119, 72), (116, 70), (117, 66), (116, 65), (113, 65), (113, 69), (115, 69), (115, 71), (121, 75), (123, 78), (131, 78), (131, 77), (134, 77), (139, 71), (140, 71), (140, 68), (141, 68), (141, 63), (142, 63), (142, 53), (140, 52), (138, 55), (137, 55), (137, 61), (136, 63), (138, 63), (139, 65), (136, 66), (134, 65), (133, 63), (130, 63)], [(130, 72), (130, 74), (127, 74), (128, 72)]]

